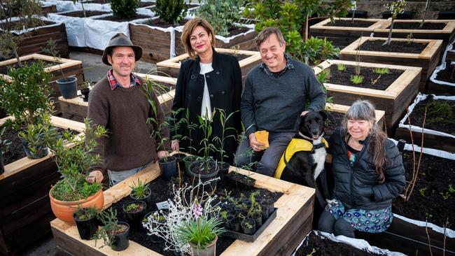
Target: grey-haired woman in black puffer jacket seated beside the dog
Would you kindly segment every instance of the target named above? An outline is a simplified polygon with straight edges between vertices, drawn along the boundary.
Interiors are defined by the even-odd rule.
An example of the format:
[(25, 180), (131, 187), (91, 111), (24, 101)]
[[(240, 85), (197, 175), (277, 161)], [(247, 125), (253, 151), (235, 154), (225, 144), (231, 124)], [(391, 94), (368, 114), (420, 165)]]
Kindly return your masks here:
[(354, 230), (384, 232), (392, 222), (392, 200), (405, 187), (405, 169), (395, 143), (378, 127), (370, 101), (352, 104), (329, 145), (334, 198), (319, 230), (348, 237)]

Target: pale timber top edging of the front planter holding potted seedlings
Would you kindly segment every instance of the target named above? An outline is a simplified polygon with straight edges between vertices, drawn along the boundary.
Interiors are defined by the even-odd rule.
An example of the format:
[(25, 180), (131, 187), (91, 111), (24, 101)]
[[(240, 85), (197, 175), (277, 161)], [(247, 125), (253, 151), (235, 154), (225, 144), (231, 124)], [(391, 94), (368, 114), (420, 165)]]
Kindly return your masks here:
[[(231, 167), (230, 171), (234, 171), (235, 167)], [(239, 173), (244, 173), (248, 175), (248, 171), (238, 169)], [(276, 215), (275, 220), (265, 229), (262, 234), (256, 239), (253, 243), (248, 243), (245, 241), (236, 240), (232, 245), (226, 249), (221, 255), (240, 255), (244, 254), (246, 250), (248, 250), (248, 254), (250, 255), (261, 255), (264, 252), (262, 251), (267, 243), (271, 241), (271, 239), (278, 234), (281, 228), (288, 223), (291, 218), (294, 218), (300, 221), (300, 218), (295, 218), (295, 214), (298, 213), (304, 204), (312, 200), (314, 198), (314, 189), (309, 187), (303, 187), (301, 185), (296, 185), (293, 183), (288, 183), (283, 180), (276, 180), (272, 177), (263, 176), (259, 173), (250, 173), (251, 178), (255, 178), (257, 180), (256, 187), (265, 187), (269, 190), (276, 190), (283, 192), (283, 196), (281, 196), (278, 201), (276, 201), (275, 206), (278, 208), (278, 212)], [(121, 198), (130, 194), (131, 188), (128, 186), (137, 178), (141, 178), (148, 181), (153, 180), (160, 176), (160, 169), (158, 164), (152, 164), (148, 168), (140, 171), (139, 173), (135, 174), (134, 176), (127, 178), (122, 183), (111, 187), (109, 190), (104, 191), (104, 208), (107, 208), (113, 204), (114, 201), (118, 201)], [(308, 209), (311, 211), (311, 209)], [(311, 213), (312, 214), (312, 213)], [(301, 220), (302, 222), (304, 220)], [(109, 247), (104, 247), (99, 249), (94, 247), (94, 241), (83, 241), (79, 238), (78, 232), (75, 226), (66, 225), (61, 220), (52, 220), (50, 222), (52, 227), (52, 232), (55, 236), (55, 241), (57, 246), (65, 248), (64, 243), (71, 243), (72, 241), (77, 241), (80, 243), (81, 246), (84, 247), (84, 250), (87, 247), (90, 247), (91, 254), (90, 255), (118, 255), (118, 252), (114, 252)], [(300, 232), (307, 232), (300, 231)], [(308, 230), (309, 232), (309, 230)], [(64, 241), (65, 239), (69, 239), (69, 241)], [(283, 241), (285, 242), (285, 241)], [(63, 244), (60, 244), (63, 243)], [(90, 249), (88, 248), (88, 249)], [(139, 252), (144, 252), (144, 255), (159, 255), (151, 250), (140, 246), (137, 243), (132, 243), (130, 241), (130, 246), (120, 252), (122, 255), (138, 255)], [(69, 252), (73, 253), (73, 252)], [(288, 252), (291, 253), (291, 252)]]

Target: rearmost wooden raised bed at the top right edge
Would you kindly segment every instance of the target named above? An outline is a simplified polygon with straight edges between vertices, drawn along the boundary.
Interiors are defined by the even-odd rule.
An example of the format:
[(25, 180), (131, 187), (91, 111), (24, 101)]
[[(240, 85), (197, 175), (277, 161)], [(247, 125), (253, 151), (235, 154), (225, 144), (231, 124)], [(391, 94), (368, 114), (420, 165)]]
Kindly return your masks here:
[[(441, 39), (442, 49), (445, 49), (447, 43), (455, 38), (455, 20), (425, 20), (423, 28), (419, 28), (421, 20), (395, 20), (393, 22), (392, 37), (407, 38), (412, 34), (412, 38), (418, 39)], [(400, 27), (413, 26), (412, 29), (401, 29)], [(374, 36), (387, 37), (388, 27), (391, 20), (382, 22), (379, 28), (374, 29)], [(414, 28), (414, 26), (416, 28)]]

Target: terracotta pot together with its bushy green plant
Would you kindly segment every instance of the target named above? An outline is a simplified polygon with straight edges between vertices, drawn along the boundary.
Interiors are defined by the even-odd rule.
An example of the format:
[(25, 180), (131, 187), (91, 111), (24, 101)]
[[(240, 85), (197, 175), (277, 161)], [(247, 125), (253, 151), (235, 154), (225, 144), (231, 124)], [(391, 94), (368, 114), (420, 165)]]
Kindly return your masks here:
[[(92, 127), (85, 119), (85, 133), (76, 136), (65, 131), (55, 143), (49, 145), (54, 152), (55, 163), (62, 180), (59, 180), (49, 191), (50, 206), (55, 217), (74, 225), (73, 213), (80, 207), (96, 207), (101, 210), (104, 205), (102, 185), (88, 183), (85, 178), (90, 167), (101, 161), (101, 157), (94, 154), (97, 139), (106, 136), (106, 129), (102, 126)], [(72, 141), (66, 146), (66, 141)]]

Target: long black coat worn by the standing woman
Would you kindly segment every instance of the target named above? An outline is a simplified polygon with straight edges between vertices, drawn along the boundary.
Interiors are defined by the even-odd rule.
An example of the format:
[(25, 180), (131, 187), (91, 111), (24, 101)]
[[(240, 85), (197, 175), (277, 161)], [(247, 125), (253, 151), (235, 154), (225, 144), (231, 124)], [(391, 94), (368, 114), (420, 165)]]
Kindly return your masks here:
[[(205, 74), (211, 109), (212, 111), (214, 111), (214, 108), (223, 109), (226, 116), (234, 113), (225, 125), (224, 136), (228, 138), (225, 139), (225, 145), (223, 147), (225, 150), (224, 155), (228, 157), (224, 161), (232, 164), (233, 155), (235, 154), (235, 150), (237, 150), (237, 134), (241, 132), (239, 111), (241, 70), (237, 57), (218, 53), (215, 50), (212, 68), (214, 69), (213, 71)], [(196, 57), (194, 60), (189, 59), (181, 64), (172, 111), (184, 108), (185, 110), (176, 116), (176, 120), (181, 120), (181, 118), (185, 118), (186, 110), (188, 109), (190, 122), (197, 125), (197, 128), (191, 131), (191, 147), (195, 148), (195, 150), (192, 150), (192, 153), (193, 155), (202, 156), (204, 153), (199, 152), (199, 150), (202, 148), (201, 141), (204, 138), (204, 133), (200, 128), (200, 122), (197, 118), (201, 115), (202, 95), (204, 94), (204, 75), (200, 74), (200, 70), (199, 57)], [(228, 127), (232, 127), (233, 129), (227, 129)], [(210, 141), (216, 136), (221, 138), (223, 127), (221, 125), (219, 111), (216, 111), (216, 115), (214, 116), (212, 129)], [(176, 132), (174, 131), (172, 134), (174, 135)], [(190, 136), (187, 125), (180, 125), (179, 134), (181, 134), (182, 138)], [(179, 141), (182, 150), (184, 152), (190, 152), (190, 140), (180, 139)], [(220, 148), (220, 145), (216, 141), (214, 141), (214, 144), (217, 149)], [(211, 155), (218, 159), (218, 161), (221, 161), (220, 152), (219, 150), (217, 151), (211, 153)]]

